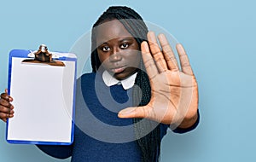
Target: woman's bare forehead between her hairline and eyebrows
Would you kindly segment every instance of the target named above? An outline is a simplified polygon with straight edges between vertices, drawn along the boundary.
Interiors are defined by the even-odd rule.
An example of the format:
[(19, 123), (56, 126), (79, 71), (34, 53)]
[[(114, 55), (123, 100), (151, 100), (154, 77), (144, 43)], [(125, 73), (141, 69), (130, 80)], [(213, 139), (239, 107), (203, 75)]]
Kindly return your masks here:
[(104, 43), (115, 38), (131, 38), (131, 33), (119, 20), (110, 20), (96, 26), (96, 43)]

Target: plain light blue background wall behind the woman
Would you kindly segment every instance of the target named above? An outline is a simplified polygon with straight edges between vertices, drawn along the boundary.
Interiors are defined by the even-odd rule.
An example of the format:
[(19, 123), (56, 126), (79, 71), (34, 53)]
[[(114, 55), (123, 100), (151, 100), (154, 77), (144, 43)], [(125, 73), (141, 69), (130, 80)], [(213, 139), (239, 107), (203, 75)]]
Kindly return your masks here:
[[(253, 0), (4, 1), (0, 4), (0, 90), (7, 87), (11, 49), (68, 51), (111, 4), (128, 5), (144, 20), (183, 43), (200, 92), (201, 123), (162, 142), (163, 162), (255, 161), (256, 3)], [(0, 160), (69, 161), (50, 158), (32, 145), (5, 141), (0, 122)]]

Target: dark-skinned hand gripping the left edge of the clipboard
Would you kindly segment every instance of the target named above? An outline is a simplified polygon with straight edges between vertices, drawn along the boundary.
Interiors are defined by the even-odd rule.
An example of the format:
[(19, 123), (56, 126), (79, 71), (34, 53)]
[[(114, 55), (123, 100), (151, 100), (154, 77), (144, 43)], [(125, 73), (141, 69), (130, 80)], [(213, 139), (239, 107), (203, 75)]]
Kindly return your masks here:
[(8, 90), (6, 89), (4, 93), (1, 94), (0, 98), (0, 119), (4, 122), (8, 118), (14, 117), (14, 106), (10, 103), (13, 101), (13, 98), (8, 95)]

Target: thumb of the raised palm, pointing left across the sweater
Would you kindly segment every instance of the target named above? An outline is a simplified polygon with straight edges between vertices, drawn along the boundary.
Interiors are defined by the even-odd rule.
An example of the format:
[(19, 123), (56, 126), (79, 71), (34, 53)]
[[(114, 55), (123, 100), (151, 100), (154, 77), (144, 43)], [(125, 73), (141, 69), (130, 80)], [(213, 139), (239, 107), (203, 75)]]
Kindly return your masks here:
[(147, 116), (147, 111), (145, 107), (127, 107), (121, 110), (118, 114), (121, 119), (128, 118), (145, 118)]

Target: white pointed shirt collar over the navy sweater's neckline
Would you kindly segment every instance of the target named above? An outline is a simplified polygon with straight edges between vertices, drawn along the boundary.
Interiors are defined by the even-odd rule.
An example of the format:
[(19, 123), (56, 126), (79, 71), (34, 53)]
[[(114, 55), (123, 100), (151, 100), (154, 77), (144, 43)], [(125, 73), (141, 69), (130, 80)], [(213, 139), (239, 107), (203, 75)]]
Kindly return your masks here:
[(137, 72), (131, 75), (129, 78), (125, 78), (124, 80), (118, 80), (116, 78), (113, 78), (113, 76), (107, 70), (102, 73), (103, 81), (108, 87), (115, 84), (122, 84), (125, 90), (130, 89), (134, 85), (136, 76)]

